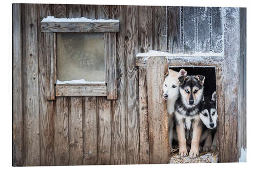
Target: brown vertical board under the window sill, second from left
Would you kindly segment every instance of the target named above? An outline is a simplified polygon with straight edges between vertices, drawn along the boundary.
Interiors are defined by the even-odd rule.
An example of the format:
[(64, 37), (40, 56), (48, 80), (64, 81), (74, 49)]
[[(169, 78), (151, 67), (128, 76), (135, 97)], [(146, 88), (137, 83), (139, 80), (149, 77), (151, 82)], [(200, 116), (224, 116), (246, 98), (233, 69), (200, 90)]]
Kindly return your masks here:
[(82, 97), (71, 97), (69, 113), (69, 165), (82, 165), (82, 147)]

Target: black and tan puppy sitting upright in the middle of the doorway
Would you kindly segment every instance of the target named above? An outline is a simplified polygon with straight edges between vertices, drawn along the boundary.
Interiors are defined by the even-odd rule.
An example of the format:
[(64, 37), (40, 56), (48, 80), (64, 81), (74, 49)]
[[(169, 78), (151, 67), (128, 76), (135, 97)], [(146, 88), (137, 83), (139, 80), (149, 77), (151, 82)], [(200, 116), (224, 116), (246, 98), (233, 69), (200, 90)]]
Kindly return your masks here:
[(189, 156), (199, 155), (199, 142), (202, 132), (200, 108), (203, 99), (204, 79), (202, 75), (181, 76), (179, 80), (180, 95), (175, 103), (176, 132), (179, 143), (179, 155), (186, 156), (186, 138), (192, 133)]

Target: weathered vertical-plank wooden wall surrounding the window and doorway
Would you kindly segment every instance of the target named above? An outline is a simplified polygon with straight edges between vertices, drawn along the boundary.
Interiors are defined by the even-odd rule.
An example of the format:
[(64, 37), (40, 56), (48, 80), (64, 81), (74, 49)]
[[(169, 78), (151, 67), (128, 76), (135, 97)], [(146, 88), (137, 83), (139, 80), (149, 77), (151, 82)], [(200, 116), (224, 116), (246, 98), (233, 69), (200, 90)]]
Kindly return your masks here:
[[(54, 100), (49, 93), (54, 88), (50, 81), (54, 44), (49, 42), (54, 37), (39, 29), (40, 20), (48, 15), (120, 20), (117, 100), (100, 96)], [(135, 67), (135, 55), (148, 50), (221, 53), (222, 15), (221, 8), (203, 7), (14, 4), (13, 165), (150, 163), (147, 101), (139, 91), (139, 87), (146, 90), (147, 81), (138, 83), (145, 70)], [(231, 59), (227, 55), (226, 60)], [(139, 106), (139, 100), (145, 105)], [(229, 120), (229, 114), (225, 118)], [(237, 124), (230, 126), (237, 129)], [(237, 138), (226, 138), (226, 143), (233, 140)], [(223, 162), (237, 161), (237, 155), (229, 155), (231, 146), (222, 147)]]

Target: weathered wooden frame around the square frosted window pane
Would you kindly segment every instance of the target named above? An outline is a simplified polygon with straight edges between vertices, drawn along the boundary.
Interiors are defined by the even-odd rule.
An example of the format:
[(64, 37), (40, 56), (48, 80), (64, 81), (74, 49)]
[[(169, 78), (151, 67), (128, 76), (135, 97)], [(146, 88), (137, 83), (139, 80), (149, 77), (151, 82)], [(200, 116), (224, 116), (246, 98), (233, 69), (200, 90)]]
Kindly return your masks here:
[[(53, 34), (55, 96), (106, 96), (117, 99), (116, 33), (119, 21), (105, 22), (41, 22), (41, 32)], [(104, 33), (105, 84), (56, 84), (57, 37), (56, 33)]]

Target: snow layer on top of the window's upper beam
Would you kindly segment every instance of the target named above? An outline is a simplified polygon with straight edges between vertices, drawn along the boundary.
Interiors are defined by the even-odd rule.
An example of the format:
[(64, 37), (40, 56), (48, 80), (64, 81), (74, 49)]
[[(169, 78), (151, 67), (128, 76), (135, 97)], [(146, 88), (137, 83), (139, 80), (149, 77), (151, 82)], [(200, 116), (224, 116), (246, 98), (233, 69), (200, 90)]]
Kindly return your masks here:
[(117, 19), (89, 19), (85, 17), (80, 18), (55, 18), (48, 16), (41, 20), (41, 22), (119, 22)]

